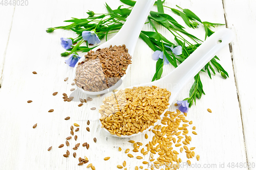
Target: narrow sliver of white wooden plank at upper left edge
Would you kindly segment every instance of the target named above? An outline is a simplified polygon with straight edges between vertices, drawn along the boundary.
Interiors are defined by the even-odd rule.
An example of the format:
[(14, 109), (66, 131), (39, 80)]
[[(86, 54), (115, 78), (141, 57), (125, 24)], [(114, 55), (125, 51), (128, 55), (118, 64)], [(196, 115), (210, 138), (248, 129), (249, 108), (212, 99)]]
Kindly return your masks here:
[(9, 35), (12, 27), (12, 17), (14, 12), (14, 6), (0, 6), (0, 23), (3, 23), (4, 27), (0, 27), (0, 87), (2, 80), (2, 73), (5, 62), (5, 55), (9, 41)]

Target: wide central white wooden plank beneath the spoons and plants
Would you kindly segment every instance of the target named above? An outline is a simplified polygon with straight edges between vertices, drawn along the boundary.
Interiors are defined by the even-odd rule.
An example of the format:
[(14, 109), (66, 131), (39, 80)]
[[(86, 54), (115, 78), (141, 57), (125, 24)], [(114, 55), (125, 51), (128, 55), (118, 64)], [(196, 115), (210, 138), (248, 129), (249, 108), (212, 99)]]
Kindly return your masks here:
[[(27, 7), (16, 7), (12, 34), (6, 53), (4, 79), (0, 89), (0, 128), (5, 136), (5, 140), (0, 141), (3, 148), (0, 155), (0, 169), (84, 168), (84, 166), (77, 166), (78, 160), (72, 156), (68, 159), (62, 156), (67, 147), (57, 148), (59, 144), (65, 144), (65, 138), (70, 135), (70, 126), (73, 123), (80, 125), (77, 142), (90, 143), (89, 150), (79, 147), (76, 152), (77, 158), (87, 156), (96, 169), (115, 169), (116, 165), (121, 164), (124, 160), (127, 162), (128, 169), (142, 165), (143, 160), (131, 159), (124, 154), (126, 148), (132, 149), (131, 143), (127, 142), (129, 139), (110, 137), (100, 130), (98, 113), (90, 108), (98, 108), (104, 96), (91, 96), (93, 101), (82, 107), (77, 107), (79, 102), (75, 100), (70, 103), (62, 101), (61, 93), (71, 93), (69, 89), (72, 88), (72, 68), (64, 63), (65, 58), (59, 56), (63, 52), (59, 38), (61, 36), (75, 37), (75, 35), (70, 31), (62, 30), (51, 34), (45, 33), (45, 29), (48, 27), (63, 25), (62, 20), (70, 17), (86, 17), (87, 10), (93, 10), (95, 13), (106, 12), (104, 2), (95, 1), (93, 4), (88, 4), (84, 1), (73, 1), (72, 3), (44, 1), (31, 2)], [(109, 0), (106, 3), (113, 9), (121, 5), (118, 1)], [(202, 0), (193, 2), (186, 0), (166, 1), (165, 4), (174, 8), (175, 5), (189, 8), (195, 11), (202, 20), (224, 23), (222, 2), (212, 2), (210, 9), (206, 8), (208, 3)], [(49, 6), (49, 4), (51, 5)], [(165, 9), (165, 12), (174, 16), (184, 26), (181, 19), (170, 10)], [(20, 25), (25, 27), (20, 27)], [(150, 30), (151, 28), (145, 26), (143, 29)], [(204, 38), (202, 26), (198, 30), (188, 30), (199, 38)], [(160, 32), (169, 39), (173, 39), (166, 30), (160, 29)], [(17, 37), (24, 39), (24, 43), (17, 45)], [(15, 47), (15, 51), (13, 51), (13, 47)], [(19, 55), (16, 55), (17, 52)], [(152, 54), (153, 51), (139, 39), (131, 70), (120, 88), (151, 81), (155, 72), (155, 61), (151, 59)], [(218, 57), (230, 78), (224, 80), (218, 75), (210, 80), (207, 74), (202, 74), (201, 79), (206, 95), (197, 101), (197, 105), (193, 106), (188, 113), (188, 120), (193, 120), (193, 125), (197, 127), (198, 133), (197, 136), (192, 136), (191, 147), (196, 147), (195, 152), (200, 155), (199, 162), (196, 159), (191, 162), (200, 164), (201, 167), (208, 164), (212, 166), (204, 169), (216, 169), (213, 167), (215, 165), (211, 164), (216, 164), (219, 168), (222, 163), (225, 163), (225, 169), (229, 169), (227, 167), (229, 162), (246, 162), (240, 109), (228, 46), (218, 54)], [(172, 66), (164, 66), (163, 76), (171, 70), (173, 70)], [(37, 71), (38, 74), (33, 75), (32, 71)], [(66, 77), (69, 77), (69, 80), (64, 82), (63, 79)], [(183, 100), (188, 96), (192, 83), (193, 81), (184, 88), (177, 100)], [(52, 96), (55, 91), (59, 93)], [(80, 93), (77, 95), (79, 98), (86, 97)], [(18, 102), (16, 102), (17, 100)], [(28, 104), (27, 100), (33, 102)], [(208, 113), (207, 108), (210, 108), (212, 113)], [(54, 109), (54, 112), (48, 113), (49, 109)], [(170, 110), (174, 111), (176, 107), (172, 105)], [(71, 119), (64, 120), (67, 116), (70, 116)], [(90, 132), (86, 131), (88, 119), (91, 122)], [(38, 126), (33, 129), (32, 126), (35, 123)], [(131, 139), (145, 144), (153, 137), (151, 132), (147, 132), (147, 134), (150, 136), (147, 140), (143, 136)], [(97, 143), (93, 142), (93, 137), (97, 138)], [(71, 140), (70, 143), (73, 146), (75, 141)], [(48, 152), (47, 149), (50, 146), (53, 146), (53, 149)], [(122, 148), (121, 152), (118, 152), (118, 147)], [(73, 153), (72, 148), (68, 148), (71, 154)], [(132, 154), (134, 156), (141, 155), (139, 153)], [(111, 159), (103, 161), (106, 156), (110, 156)], [(181, 158), (183, 162), (186, 161), (184, 154), (181, 155)], [(145, 156), (144, 160), (148, 160), (148, 156)], [(145, 165), (143, 166), (145, 168)], [(197, 168), (184, 167), (182, 169)], [(232, 169), (247, 168), (235, 167)]]

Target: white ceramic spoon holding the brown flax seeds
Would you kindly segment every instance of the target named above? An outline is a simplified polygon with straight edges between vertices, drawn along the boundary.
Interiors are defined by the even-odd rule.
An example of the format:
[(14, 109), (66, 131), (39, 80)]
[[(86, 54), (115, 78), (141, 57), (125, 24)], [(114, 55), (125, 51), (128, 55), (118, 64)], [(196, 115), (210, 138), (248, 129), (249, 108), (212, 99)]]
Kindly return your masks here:
[[(122, 45), (125, 44), (126, 48), (128, 48), (129, 54), (133, 57), (134, 49), (136, 46), (136, 42), (138, 40), (138, 37), (140, 35), (141, 29), (144, 26), (145, 20), (150, 13), (150, 10), (152, 6), (154, 5), (156, 0), (138, 0), (131, 12), (131, 14), (127, 17), (124, 25), (118, 31), (118, 33), (111, 38), (110, 40), (104, 42), (103, 44), (96, 47), (98, 48), (105, 48), (110, 47), (110, 45)], [(75, 78), (76, 76), (76, 67), (79, 62), (82, 62), (85, 60), (85, 57), (81, 57), (80, 60), (76, 63), (74, 67), (73, 76)], [(129, 72), (130, 65), (128, 65), (125, 72)], [(112, 87), (102, 90), (102, 91), (86, 91), (82, 88), (77, 87), (81, 92), (89, 94), (89, 95), (98, 95), (98, 94), (104, 94), (108, 93), (116, 88), (118, 88), (121, 84), (123, 79), (125, 78), (125, 75)]]

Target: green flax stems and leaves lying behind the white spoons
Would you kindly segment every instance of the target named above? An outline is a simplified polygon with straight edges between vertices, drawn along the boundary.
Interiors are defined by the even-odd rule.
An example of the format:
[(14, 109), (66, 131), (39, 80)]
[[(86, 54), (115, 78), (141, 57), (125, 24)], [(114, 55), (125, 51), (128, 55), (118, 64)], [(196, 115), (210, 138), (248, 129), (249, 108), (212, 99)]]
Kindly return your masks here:
[[(88, 43), (87, 46), (80, 46), (82, 41), (82, 32), (83, 31), (94, 31), (99, 39), (108, 40), (108, 35), (112, 33), (118, 32), (120, 30), (127, 18), (130, 15), (133, 6), (135, 5), (136, 1), (132, 0), (120, 0), (122, 3), (129, 5), (129, 8), (122, 8), (122, 5), (119, 6), (117, 9), (113, 10), (108, 4), (105, 4), (106, 9), (108, 10), (108, 14), (95, 14), (93, 11), (87, 12), (89, 14), (88, 18), (72, 18), (70, 20), (66, 20), (65, 22), (71, 22), (70, 25), (61, 26), (61, 27), (54, 27), (48, 28), (47, 32), (53, 32), (57, 29), (64, 29), (64, 30), (72, 30), (78, 36), (75, 39), (72, 39), (74, 45), (72, 45), (67, 52), (61, 53), (61, 56), (68, 56), (71, 52), (89, 52), (95, 46), (89, 47)], [(192, 54), (197, 47), (201, 45), (203, 42), (196, 36), (188, 33), (185, 31), (185, 28), (180, 25), (172, 16), (164, 13), (164, 7), (172, 10), (174, 14), (180, 16), (185, 24), (189, 28), (197, 29), (200, 25), (202, 25), (205, 29), (205, 39), (209, 37), (211, 34), (214, 33), (210, 28), (223, 25), (220, 23), (211, 23), (204, 21), (202, 22), (201, 19), (192, 11), (188, 9), (182, 9), (181, 7), (177, 6), (178, 9), (174, 9), (171, 7), (163, 6), (164, 1), (157, 0), (154, 5), (157, 5), (158, 11), (151, 11), (150, 15), (148, 15), (148, 22), (154, 31), (141, 31), (139, 37), (150, 47), (153, 51), (163, 51), (164, 56), (166, 59), (172, 64), (174, 67), (177, 67), (180, 63), (182, 63), (190, 54)], [(166, 37), (161, 35), (156, 27), (155, 24), (160, 25), (167, 29), (173, 36), (174, 42), (169, 41)], [(190, 43), (187, 39), (183, 37), (186, 35), (189, 39), (193, 40), (194, 43)], [(79, 43), (76, 44), (75, 43)], [(177, 56), (174, 55), (172, 50), (167, 46), (182, 46), (182, 54)], [(156, 72), (153, 76), (152, 81), (158, 80), (162, 76), (163, 72), (163, 59), (158, 59), (156, 62)], [(219, 58), (215, 56), (213, 59), (210, 60), (205, 66), (204, 69), (201, 69), (202, 72), (207, 72), (209, 78), (211, 79), (212, 75), (216, 75), (216, 70), (221, 74), (223, 78), (228, 77), (228, 73), (225, 69), (218, 63)], [(200, 72), (201, 72), (200, 71)], [(188, 100), (189, 107), (193, 105), (196, 99), (201, 99), (202, 94), (205, 94), (203, 91), (203, 84), (200, 79), (200, 72), (195, 76), (195, 81), (189, 90), (189, 98), (184, 100)]]

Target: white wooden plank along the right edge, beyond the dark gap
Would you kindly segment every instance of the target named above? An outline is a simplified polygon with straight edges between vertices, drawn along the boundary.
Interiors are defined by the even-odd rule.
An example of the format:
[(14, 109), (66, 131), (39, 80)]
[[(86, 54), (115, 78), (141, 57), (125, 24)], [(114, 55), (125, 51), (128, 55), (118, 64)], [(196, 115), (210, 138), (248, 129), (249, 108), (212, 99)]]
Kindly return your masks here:
[[(248, 165), (256, 162), (256, 92), (254, 89), (255, 80), (254, 64), (254, 39), (253, 33), (256, 26), (256, 12), (252, 7), (256, 6), (255, 1), (223, 1), (227, 19), (227, 26), (236, 33), (232, 43), (232, 56), (234, 75), (238, 88), (239, 102), (243, 119), (243, 133), (245, 137)], [(237, 9), (237, 10), (234, 10)], [(240, 12), (238, 12), (240, 11)], [(255, 166), (254, 166), (255, 168)], [(251, 168), (250, 169), (254, 169)]]

